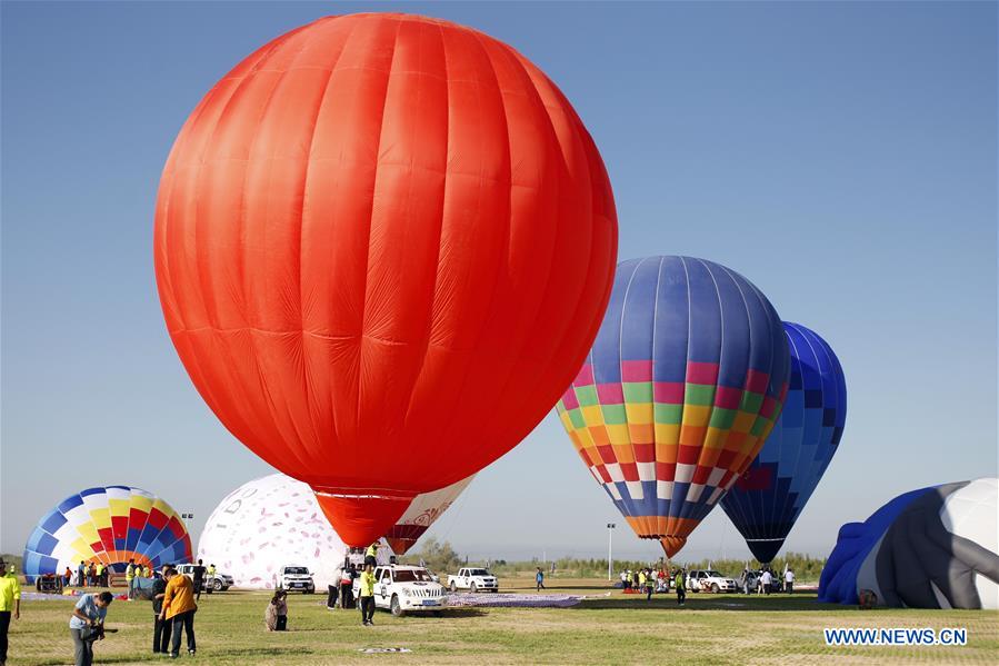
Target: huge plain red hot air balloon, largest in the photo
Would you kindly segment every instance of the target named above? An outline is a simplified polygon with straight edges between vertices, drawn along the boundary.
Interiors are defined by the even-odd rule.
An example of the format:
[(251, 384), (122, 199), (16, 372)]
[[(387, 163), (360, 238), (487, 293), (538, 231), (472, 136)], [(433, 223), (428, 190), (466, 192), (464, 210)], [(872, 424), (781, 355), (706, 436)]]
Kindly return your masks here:
[(558, 88), (413, 16), (324, 18), (249, 56), (181, 129), (157, 201), (191, 380), (351, 545), (540, 421), (616, 252), (603, 163)]

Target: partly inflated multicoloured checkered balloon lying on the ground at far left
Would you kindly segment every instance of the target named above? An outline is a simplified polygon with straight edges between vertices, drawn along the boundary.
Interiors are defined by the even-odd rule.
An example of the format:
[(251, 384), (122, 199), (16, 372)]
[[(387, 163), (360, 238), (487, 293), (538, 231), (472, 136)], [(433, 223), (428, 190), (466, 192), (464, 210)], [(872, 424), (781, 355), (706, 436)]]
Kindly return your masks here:
[(129, 559), (158, 568), (191, 561), (191, 537), (169, 504), (140, 488), (103, 486), (71, 495), (39, 520), (24, 546), (24, 576), (76, 570), (80, 561), (123, 571)]

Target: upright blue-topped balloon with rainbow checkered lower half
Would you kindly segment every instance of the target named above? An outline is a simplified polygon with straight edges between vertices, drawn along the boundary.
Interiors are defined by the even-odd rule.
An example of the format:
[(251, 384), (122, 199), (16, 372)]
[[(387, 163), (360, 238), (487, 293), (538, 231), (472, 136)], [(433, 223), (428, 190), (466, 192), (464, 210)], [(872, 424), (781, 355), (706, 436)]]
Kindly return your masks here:
[(746, 278), (703, 259), (632, 259), (557, 410), (635, 533), (672, 557), (763, 446), (789, 366), (780, 318)]

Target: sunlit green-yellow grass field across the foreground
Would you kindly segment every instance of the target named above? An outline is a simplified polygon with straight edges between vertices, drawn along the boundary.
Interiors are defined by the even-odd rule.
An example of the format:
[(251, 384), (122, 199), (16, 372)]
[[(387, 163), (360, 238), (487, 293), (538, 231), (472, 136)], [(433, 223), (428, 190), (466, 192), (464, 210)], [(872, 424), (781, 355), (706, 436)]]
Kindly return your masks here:
[[(532, 589), (528, 578), (503, 579), (508, 592)], [(549, 593), (603, 595), (601, 580), (550, 580)], [(267, 593), (202, 595), (198, 655), (180, 662), (242, 664), (816, 664), (999, 663), (999, 613), (871, 610), (817, 604), (815, 595), (742, 597), (673, 595), (651, 603), (611, 592), (565, 609), (453, 609), (443, 617), (393, 618), (379, 610), (374, 627), (357, 612), (327, 610), (324, 595), (289, 599), (288, 633), (263, 627)], [(11, 623), (11, 665), (72, 663), (69, 615), (73, 600), (26, 602)], [(96, 663), (169, 660), (151, 653), (148, 602), (114, 602), (108, 626), (118, 634), (97, 644)], [(827, 647), (823, 627), (966, 627), (963, 647)], [(407, 647), (408, 654), (362, 654), (368, 647)]]

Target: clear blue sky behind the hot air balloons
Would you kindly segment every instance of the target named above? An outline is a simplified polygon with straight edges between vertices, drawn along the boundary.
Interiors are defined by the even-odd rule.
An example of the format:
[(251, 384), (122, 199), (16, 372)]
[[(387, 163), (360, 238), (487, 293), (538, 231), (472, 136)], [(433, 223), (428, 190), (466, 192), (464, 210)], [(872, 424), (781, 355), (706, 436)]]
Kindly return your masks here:
[[(312, 19), (400, 8), (519, 49), (607, 162), (620, 258), (756, 282), (847, 372), (839, 456), (787, 548), (997, 473), (995, 3), (2, 4), (2, 534), (132, 484), (200, 524), (270, 473), (196, 394), (152, 269), (157, 183), (201, 96)], [(552, 416), (434, 531), (461, 551), (658, 556)], [(621, 529), (623, 528), (623, 529)], [(748, 555), (720, 508), (681, 557)]]

